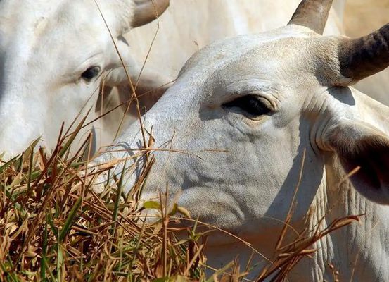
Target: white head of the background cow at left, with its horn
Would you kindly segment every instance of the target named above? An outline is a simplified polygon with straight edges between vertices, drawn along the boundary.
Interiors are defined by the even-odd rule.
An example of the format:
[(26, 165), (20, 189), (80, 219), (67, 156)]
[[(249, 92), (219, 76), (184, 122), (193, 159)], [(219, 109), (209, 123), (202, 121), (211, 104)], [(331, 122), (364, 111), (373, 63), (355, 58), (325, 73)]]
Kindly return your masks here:
[(168, 5), (168, 0), (1, 1), (0, 152), (17, 154), (39, 136), (53, 147), (61, 123), (68, 127), (91, 107), (107, 73), (107, 85), (127, 81), (113, 41), (129, 73), (138, 75), (121, 35)]

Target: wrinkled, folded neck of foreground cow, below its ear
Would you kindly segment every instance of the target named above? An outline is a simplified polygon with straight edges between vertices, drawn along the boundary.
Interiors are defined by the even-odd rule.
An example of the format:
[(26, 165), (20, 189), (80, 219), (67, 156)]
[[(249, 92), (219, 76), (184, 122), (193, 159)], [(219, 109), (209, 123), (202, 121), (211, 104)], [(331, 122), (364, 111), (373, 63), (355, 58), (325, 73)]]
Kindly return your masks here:
[[(320, 221), (323, 230), (336, 219), (365, 215), (360, 217), (360, 223), (351, 223), (319, 240), (314, 245), (318, 250), (314, 259), (304, 259), (293, 271), (291, 281), (297, 278), (333, 281), (334, 271), (338, 271), (340, 281), (388, 281), (389, 207), (359, 195), (335, 155), (326, 160), (324, 174), (325, 182), (312, 202), (307, 227), (316, 227), (324, 218)], [(307, 269), (311, 271), (309, 274)]]

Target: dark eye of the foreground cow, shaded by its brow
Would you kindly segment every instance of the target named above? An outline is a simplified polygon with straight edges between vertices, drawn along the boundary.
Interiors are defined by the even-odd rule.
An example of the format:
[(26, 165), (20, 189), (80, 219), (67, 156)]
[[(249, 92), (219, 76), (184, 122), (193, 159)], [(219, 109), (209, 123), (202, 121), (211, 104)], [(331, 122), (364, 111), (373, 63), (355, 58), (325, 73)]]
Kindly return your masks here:
[(223, 106), (228, 109), (239, 109), (243, 111), (243, 114), (248, 114), (249, 117), (262, 116), (264, 114), (269, 114), (269, 112), (272, 111), (262, 99), (255, 95), (239, 97), (231, 102), (224, 103)]

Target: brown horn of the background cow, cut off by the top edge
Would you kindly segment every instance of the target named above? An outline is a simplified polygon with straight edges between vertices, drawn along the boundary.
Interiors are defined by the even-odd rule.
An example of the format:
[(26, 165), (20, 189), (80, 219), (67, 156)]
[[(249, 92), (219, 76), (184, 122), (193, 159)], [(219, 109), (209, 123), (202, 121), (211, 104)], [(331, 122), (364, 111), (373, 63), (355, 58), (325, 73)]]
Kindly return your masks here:
[(169, 0), (134, 0), (132, 27), (140, 27), (152, 22), (169, 6)]

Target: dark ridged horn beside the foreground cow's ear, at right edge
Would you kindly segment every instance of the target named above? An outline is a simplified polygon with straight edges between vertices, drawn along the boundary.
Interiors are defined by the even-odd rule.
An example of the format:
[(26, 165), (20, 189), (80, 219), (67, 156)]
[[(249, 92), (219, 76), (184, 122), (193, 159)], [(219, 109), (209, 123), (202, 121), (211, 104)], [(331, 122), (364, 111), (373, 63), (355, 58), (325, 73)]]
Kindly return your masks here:
[(389, 23), (357, 39), (345, 39), (338, 49), (340, 73), (357, 82), (389, 66)]

